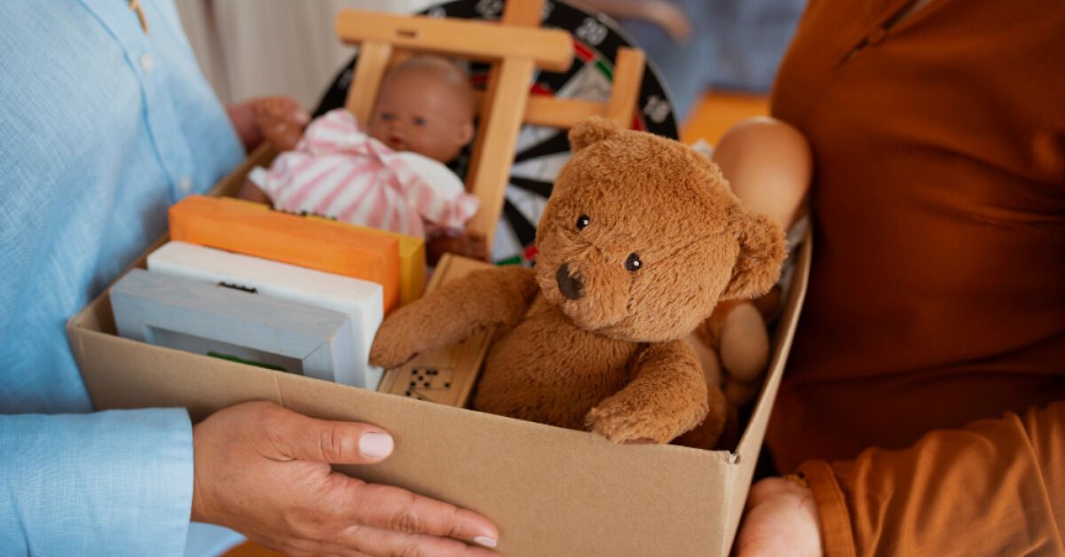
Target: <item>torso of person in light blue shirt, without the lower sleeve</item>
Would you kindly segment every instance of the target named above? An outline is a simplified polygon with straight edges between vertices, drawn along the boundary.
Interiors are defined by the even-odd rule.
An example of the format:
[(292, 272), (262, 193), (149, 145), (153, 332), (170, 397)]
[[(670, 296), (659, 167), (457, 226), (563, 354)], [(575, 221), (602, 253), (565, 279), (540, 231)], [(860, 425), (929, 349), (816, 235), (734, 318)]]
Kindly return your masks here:
[(86, 411), (64, 325), (243, 150), (168, 1), (0, 4), (0, 412)]

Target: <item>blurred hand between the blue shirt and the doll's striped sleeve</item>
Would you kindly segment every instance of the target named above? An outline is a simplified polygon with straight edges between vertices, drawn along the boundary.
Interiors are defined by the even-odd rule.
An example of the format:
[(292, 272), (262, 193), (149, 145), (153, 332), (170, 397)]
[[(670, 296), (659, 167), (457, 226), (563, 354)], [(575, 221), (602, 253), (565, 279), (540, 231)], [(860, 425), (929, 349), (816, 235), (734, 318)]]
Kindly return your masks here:
[(249, 152), (263, 141), (271, 141), (278, 150), (291, 150), (311, 119), (292, 97), (260, 97), (230, 104), (226, 112)]

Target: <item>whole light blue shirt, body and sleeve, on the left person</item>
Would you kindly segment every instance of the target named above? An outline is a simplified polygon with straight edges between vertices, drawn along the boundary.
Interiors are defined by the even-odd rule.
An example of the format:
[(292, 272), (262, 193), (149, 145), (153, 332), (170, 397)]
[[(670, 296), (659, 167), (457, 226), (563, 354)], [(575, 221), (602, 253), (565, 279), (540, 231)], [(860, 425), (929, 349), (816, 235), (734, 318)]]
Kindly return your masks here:
[[(180, 555), (180, 409), (92, 405), (65, 322), (243, 150), (169, 1), (0, 1), (0, 554)], [(68, 413), (71, 415), (42, 415)], [(21, 415), (16, 415), (21, 414)]]

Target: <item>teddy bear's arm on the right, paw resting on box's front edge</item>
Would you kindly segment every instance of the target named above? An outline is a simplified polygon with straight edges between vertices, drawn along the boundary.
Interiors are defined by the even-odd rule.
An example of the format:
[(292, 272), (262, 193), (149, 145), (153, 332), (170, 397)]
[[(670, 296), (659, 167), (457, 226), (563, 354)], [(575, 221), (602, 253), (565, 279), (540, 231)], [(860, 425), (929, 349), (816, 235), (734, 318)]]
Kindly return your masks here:
[(617, 443), (668, 443), (699, 425), (708, 408), (703, 370), (678, 340), (642, 350), (633, 381), (589, 411), (586, 424)]

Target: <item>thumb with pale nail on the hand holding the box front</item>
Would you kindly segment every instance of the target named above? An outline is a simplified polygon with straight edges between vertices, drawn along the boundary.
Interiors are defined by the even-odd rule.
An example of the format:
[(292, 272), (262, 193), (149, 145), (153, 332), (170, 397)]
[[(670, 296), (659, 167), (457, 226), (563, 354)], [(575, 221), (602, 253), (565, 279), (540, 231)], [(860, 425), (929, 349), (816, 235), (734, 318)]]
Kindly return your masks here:
[(316, 420), (290, 412), (271, 436), (285, 457), (330, 464), (370, 464), (392, 454), (395, 444), (383, 429), (357, 422)]

